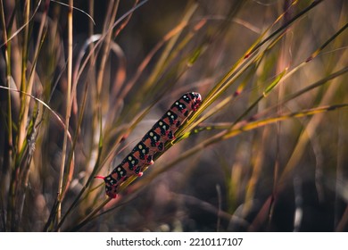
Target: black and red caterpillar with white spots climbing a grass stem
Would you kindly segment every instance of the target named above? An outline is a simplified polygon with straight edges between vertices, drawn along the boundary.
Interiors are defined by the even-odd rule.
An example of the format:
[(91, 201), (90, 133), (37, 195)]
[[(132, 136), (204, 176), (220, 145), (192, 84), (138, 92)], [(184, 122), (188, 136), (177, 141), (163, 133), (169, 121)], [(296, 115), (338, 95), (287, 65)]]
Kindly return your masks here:
[(153, 155), (161, 152), (165, 144), (175, 138), (174, 133), (201, 103), (202, 97), (198, 93), (190, 92), (181, 96), (111, 174), (105, 177), (96, 176), (95, 178), (104, 179), (106, 195), (115, 198), (121, 183), (130, 176), (142, 176), (145, 166), (153, 164)]

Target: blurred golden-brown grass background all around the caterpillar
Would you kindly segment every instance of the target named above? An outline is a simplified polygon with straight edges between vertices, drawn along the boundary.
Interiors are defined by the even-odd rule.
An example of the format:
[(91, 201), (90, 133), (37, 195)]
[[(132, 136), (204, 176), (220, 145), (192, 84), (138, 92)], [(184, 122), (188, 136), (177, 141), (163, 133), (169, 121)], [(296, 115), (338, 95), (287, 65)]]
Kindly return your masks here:
[[(348, 229), (346, 1), (2, 3), (1, 231)], [(184, 139), (107, 200), (188, 91)]]

